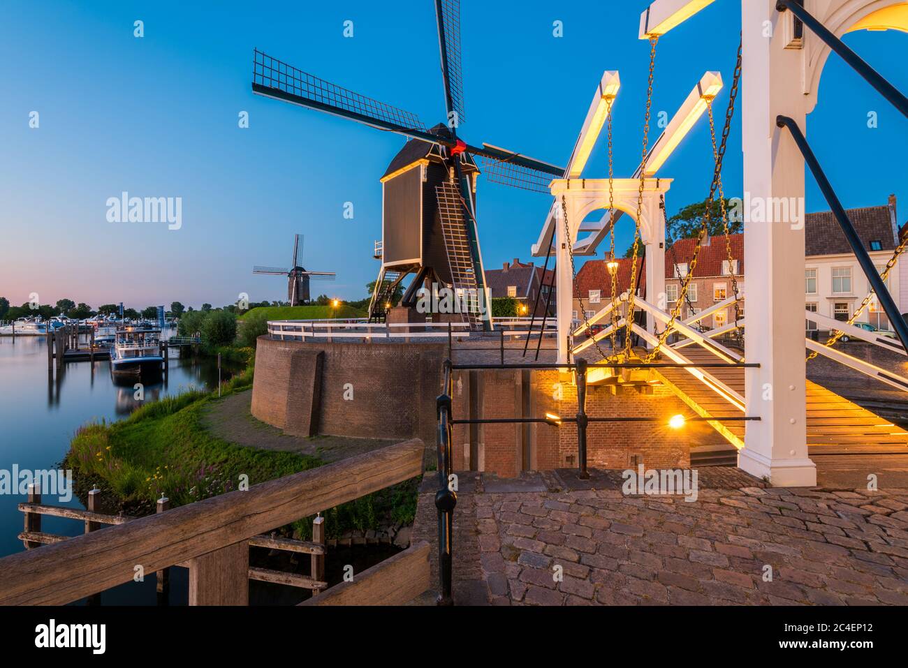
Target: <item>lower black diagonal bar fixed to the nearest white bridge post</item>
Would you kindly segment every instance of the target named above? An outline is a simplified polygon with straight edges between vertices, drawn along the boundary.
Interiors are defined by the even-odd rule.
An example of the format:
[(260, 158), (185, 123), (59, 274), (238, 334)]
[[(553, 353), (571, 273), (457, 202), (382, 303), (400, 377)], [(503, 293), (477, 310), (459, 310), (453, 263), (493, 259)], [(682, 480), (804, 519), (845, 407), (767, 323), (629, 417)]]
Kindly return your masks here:
[(854, 256), (861, 265), (861, 269), (864, 270), (864, 275), (866, 275), (867, 280), (870, 282), (873, 292), (876, 293), (876, 299), (880, 301), (880, 306), (883, 307), (883, 311), (885, 311), (886, 316), (892, 323), (893, 329), (895, 329), (895, 333), (898, 335), (899, 340), (902, 341), (903, 347), (908, 349), (908, 325), (905, 324), (902, 314), (895, 306), (893, 296), (889, 294), (889, 290), (886, 289), (886, 284), (883, 282), (880, 272), (877, 271), (876, 267), (873, 265), (873, 260), (870, 259), (870, 254), (864, 248), (861, 238), (858, 236), (857, 231), (854, 230), (852, 221), (848, 219), (848, 214), (845, 213), (842, 202), (835, 196), (833, 186), (826, 178), (823, 168), (820, 167), (820, 163), (817, 162), (816, 156), (810, 148), (810, 144), (808, 144), (807, 140), (804, 138), (804, 133), (801, 132), (801, 128), (798, 127), (795, 120), (788, 116), (777, 116), (775, 124), (780, 128), (788, 128), (788, 132), (792, 133), (792, 137), (795, 139), (797, 147), (804, 155), (804, 162), (807, 163), (810, 171), (814, 174), (817, 185), (820, 186), (823, 196), (829, 203), (829, 207), (833, 210), (835, 220), (839, 221), (839, 226), (844, 232), (845, 239), (848, 240), (848, 244), (851, 246), (852, 251), (854, 251)]

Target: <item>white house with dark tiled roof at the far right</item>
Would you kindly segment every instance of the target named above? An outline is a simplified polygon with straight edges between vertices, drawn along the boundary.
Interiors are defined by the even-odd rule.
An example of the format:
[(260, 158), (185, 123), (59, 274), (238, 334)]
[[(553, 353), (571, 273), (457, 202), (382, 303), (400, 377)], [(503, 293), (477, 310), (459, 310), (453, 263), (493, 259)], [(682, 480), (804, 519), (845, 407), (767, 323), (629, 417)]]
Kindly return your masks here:
[[(900, 236), (908, 231), (905, 229), (908, 225), (899, 230), (895, 195), (889, 196), (889, 203), (885, 206), (850, 209), (847, 213), (873, 265), (882, 273), (898, 246)], [(806, 309), (838, 320), (851, 318), (871, 287), (832, 211), (808, 213), (804, 234)], [(890, 273), (886, 287), (899, 311), (908, 309), (908, 261), (904, 256)], [(880, 329), (892, 329), (875, 299), (864, 309), (858, 321), (869, 322)], [(807, 329), (825, 328), (818, 328), (815, 322), (808, 320)]]

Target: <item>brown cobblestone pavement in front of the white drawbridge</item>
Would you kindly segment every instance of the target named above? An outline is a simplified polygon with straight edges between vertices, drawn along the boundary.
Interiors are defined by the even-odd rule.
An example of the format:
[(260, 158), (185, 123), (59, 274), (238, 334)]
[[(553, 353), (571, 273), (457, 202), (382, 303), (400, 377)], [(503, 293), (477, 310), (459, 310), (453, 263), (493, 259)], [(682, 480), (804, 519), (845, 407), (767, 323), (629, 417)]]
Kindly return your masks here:
[[(458, 603), (908, 604), (908, 489), (548, 488), (461, 488)], [(434, 543), (431, 496), (417, 524)]]

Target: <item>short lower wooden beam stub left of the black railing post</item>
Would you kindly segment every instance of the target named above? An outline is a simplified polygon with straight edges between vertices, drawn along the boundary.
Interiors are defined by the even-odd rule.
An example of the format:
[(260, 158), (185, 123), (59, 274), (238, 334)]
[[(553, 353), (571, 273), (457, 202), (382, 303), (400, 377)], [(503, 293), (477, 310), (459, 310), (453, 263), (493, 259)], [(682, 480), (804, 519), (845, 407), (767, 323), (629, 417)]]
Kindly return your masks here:
[(301, 605), (402, 605), (429, 589), (429, 544), (411, 545)]

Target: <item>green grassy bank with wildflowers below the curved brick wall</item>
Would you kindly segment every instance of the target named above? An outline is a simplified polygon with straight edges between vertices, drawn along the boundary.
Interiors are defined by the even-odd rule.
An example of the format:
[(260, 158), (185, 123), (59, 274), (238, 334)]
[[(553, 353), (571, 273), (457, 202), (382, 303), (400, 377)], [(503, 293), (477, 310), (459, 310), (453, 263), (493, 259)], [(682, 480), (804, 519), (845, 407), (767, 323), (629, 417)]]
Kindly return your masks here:
[[(222, 386), (232, 394), (252, 386), (252, 368)], [(209, 496), (320, 467), (318, 457), (242, 447), (213, 437), (203, 426), (203, 412), (217, 393), (198, 390), (167, 397), (139, 408), (119, 422), (90, 423), (73, 438), (64, 467), (91, 484), (103, 483), (119, 496), (127, 512), (153, 512), (161, 496), (182, 506)], [(411, 524), (416, 514), (417, 481), (389, 487), (329, 509), (329, 537), (350, 529), (378, 529)], [(311, 517), (292, 527), (311, 536)]]

